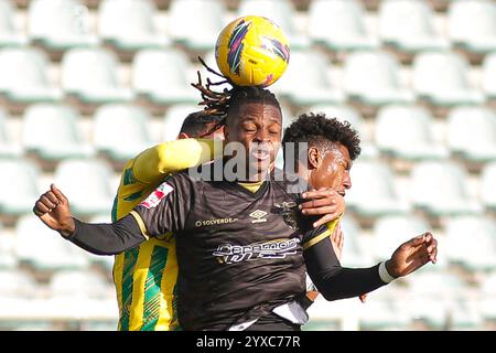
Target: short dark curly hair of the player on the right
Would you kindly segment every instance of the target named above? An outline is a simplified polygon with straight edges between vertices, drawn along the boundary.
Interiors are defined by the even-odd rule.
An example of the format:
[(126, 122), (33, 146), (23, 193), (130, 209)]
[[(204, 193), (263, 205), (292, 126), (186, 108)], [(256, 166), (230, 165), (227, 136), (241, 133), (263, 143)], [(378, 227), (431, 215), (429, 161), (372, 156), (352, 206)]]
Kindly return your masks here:
[[(325, 114), (302, 114), (285, 130), (282, 145), (285, 142), (341, 143), (348, 149), (349, 158), (355, 160), (360, 154), (360, 139), (348, 121), (327, 118)], [(298, 143), (296, 143), (298, 150)]]

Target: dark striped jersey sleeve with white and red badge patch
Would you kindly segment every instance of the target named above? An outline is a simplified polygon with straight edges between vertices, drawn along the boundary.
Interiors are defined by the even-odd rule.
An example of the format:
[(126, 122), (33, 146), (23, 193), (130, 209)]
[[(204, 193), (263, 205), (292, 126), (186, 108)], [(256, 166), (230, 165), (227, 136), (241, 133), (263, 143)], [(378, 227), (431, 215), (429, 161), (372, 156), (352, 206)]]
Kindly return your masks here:
[(144, 237), (184, 229), (192, 204), (192, 184), (186, 173), (165, 179), (131, 215)]

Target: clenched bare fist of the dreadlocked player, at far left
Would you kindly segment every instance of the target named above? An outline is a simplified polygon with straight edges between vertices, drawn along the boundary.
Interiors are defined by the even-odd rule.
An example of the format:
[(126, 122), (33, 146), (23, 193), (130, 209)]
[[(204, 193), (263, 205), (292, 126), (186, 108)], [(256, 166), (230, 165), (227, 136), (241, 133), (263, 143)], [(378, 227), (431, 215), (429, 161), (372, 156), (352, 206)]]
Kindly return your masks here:
[(54, 184), (36, 201), (33, 212), (48, 227), (67, 237), (73, 234), (75, 223), (67, 197)]

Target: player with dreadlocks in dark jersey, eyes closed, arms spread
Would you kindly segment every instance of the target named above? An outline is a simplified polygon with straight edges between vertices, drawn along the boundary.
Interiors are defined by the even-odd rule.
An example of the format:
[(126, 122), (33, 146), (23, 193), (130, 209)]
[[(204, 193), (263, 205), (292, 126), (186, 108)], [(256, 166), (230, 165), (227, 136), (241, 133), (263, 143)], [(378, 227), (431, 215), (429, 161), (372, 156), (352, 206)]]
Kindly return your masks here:
[[(207, 106), (222, 110), (223, 97), (207, 98)], [(236, 180), (223, 175), (220, 181), (209, 181), (180, 172), (112, 224), (72, 217), (67, 199), (52, 185), (35, 203), (34, 213), (63, 237), (100, 255), (118, 254), (173, 232), (179, 319), (186, 330), (299, 330), (299, 324), (274, 315), (273, 310), (305, 295), (303, 254), (312, 263), (312, 279), (328, 300), (371, 291), (435, 260), (436, 244), (430, 234), (405, 243), (389, 260), (370, 268), (342, 268), (332, 248), (321, 257), (313, 249), (328, 240), (332, 229), (325, 217), (334, 199), (327, 189), (290, 194), (294, 183), (288, 178), (276, 180), (271, 171), (282, 130), (276, 97), (267, 89), (235, 87), (224, 103), (228, 103), (226, 141), (238, 143), (244, 152), (226, 158), (227, 162), (242, 159), (236, 164)], [(295, 227), (288, 217), (289, 211), (304, 218), (296, 206), (301, 197), (312, 199), (302, 204), (306, 214), (326, 214), (314, 228)]]

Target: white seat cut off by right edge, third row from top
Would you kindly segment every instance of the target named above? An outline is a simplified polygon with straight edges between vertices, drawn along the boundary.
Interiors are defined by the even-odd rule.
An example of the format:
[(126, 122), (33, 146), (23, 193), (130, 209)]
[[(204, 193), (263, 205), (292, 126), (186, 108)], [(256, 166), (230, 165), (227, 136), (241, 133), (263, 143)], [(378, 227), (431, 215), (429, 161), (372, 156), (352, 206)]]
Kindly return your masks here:
[(487, 107), (457, 107), (448, 117), (446, 145), (466, 160), (496, 160), (496, 114)]

